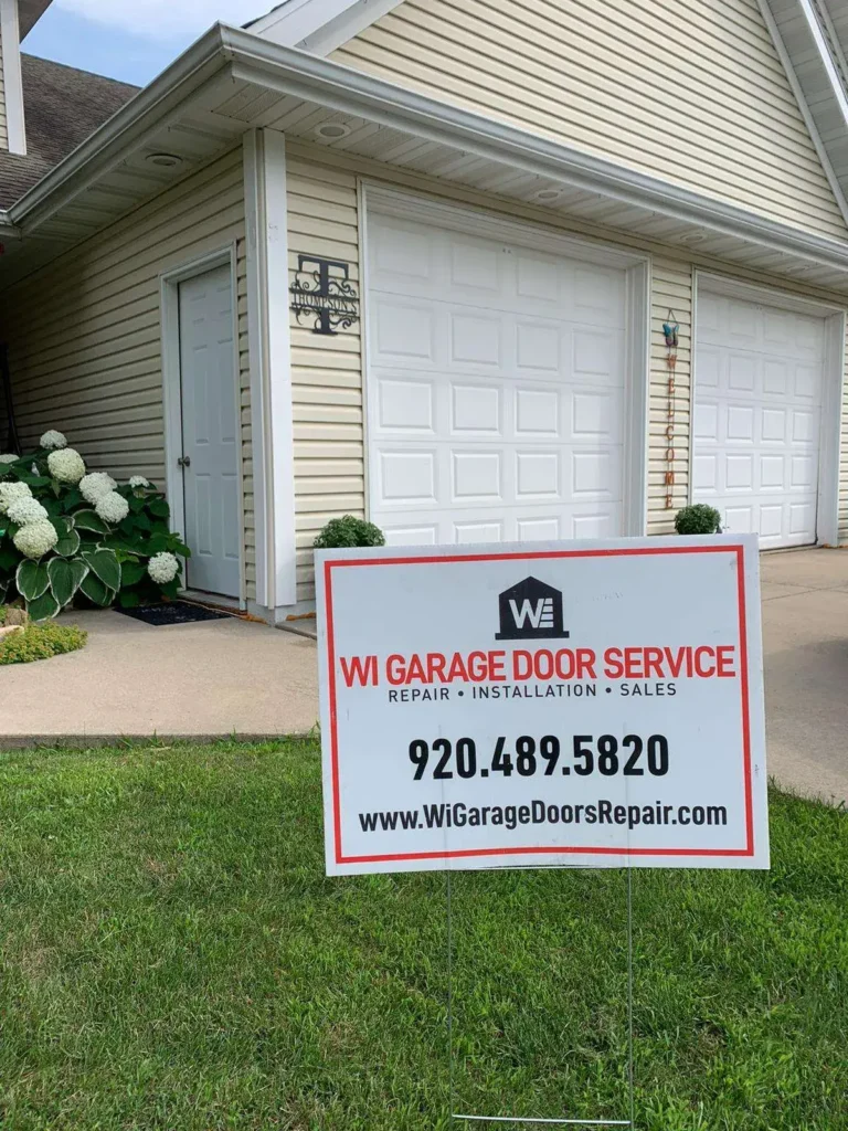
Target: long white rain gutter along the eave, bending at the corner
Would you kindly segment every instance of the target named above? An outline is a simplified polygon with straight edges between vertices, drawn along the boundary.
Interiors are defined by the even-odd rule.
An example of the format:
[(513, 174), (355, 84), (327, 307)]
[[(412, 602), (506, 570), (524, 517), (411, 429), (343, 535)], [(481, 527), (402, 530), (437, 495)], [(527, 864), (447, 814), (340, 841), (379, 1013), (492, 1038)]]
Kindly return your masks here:
[[(841, 243), (712, 200), (604, 157), (550, 141), (434, 98), (404, 90), (250, 32), (217, 25), (136, 95), (87, 141), (50, 172), (11, 209), (24, 232), (71, 200), (119, 164), (156, 129), (176, 119), (191, 95), (228, 68), (256, 83), (338, 112), (475, 154), (659, 216), (745, 241), (758, 249), (797, 257), (848, 275), (848, 242)], [(245, 129), (248, 129), (245, 123)]]

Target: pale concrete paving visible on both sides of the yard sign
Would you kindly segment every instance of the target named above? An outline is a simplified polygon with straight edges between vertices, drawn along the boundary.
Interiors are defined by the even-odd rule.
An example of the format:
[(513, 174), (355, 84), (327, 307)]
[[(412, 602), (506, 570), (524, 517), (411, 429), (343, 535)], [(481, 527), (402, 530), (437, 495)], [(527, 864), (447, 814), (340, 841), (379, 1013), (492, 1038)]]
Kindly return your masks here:
[[(848, 551), (764, 554), (769, 769), (848, 802)], [(315, 644), (233, 618), (152, 628), (73, 613), (80, 653), (0, 668), (0, 749), (33, 739), (270, 736), (318, 719)]]

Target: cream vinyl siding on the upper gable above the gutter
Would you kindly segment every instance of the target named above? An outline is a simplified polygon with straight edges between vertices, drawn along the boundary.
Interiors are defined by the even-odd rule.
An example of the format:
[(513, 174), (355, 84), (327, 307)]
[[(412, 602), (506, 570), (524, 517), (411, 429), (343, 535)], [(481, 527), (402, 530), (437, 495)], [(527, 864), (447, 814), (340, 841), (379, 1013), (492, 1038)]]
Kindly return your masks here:
[(404, 0), (331, 58), (847, 234), (756, 0)]

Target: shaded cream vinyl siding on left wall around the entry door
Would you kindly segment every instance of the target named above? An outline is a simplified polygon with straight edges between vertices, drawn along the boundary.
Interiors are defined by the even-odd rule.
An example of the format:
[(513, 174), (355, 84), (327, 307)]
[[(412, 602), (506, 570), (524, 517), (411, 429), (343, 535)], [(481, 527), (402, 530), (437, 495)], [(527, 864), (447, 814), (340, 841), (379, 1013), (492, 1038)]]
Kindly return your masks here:
[(256, 580), (241, 148), (0, 295), (0, 337), (21, 442), (64, 432), (92, 468), (165, 481), (163, 271), (237, 251), (242, 459), (249, 596)]

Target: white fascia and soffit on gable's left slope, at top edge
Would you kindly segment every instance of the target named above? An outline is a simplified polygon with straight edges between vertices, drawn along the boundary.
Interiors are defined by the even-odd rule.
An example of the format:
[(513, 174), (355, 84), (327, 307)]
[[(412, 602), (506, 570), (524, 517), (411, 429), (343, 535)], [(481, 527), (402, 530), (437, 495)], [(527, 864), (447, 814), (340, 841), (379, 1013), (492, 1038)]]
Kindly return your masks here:
[(328, 55), (403, 0), (288, 0), (250, 25), (250, 32), (285, 48)]

